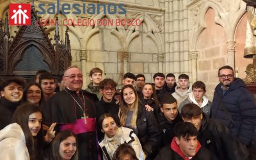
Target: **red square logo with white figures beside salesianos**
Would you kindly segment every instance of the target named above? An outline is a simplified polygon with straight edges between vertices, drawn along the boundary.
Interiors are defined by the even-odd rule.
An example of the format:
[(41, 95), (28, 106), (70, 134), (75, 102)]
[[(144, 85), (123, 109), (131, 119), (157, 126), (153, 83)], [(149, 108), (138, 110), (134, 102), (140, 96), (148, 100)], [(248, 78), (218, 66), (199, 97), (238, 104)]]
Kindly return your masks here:
[(9, 24), (15, 26), (31, 25), (31, 5), (30, 4), (10, 4)]

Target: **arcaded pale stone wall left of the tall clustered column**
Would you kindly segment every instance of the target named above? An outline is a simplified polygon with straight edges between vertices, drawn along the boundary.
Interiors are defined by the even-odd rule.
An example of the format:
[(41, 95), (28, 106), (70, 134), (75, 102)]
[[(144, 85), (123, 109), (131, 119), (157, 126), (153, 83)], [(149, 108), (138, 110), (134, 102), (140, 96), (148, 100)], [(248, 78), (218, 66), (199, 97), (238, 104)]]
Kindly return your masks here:
[[(12, 3), (18, 1), (12, 0)], [(23, 1), (26, 3), (26, 1)], [(19, 1), (22, 3), (22, 1)], [(49, 0), (35, 1), (38, 3), (52, 3)], [(82, 1), (61, 1), (61, 3), (83, 3)], [(145, 74), (147, 81), (152, 82), (156, 72), (163, 72), (164, 61), (164, 1), (160, 0), (133, 0), (133, 1), (86, 1), (88, 3), (124, 3), (127, 10), (125, 15), (104, 15), (102, 12), (95, 15), (40, 15), (42, 19), (55, 19), (60, 24), (60, 37), (64, 42), (66, 26), (61, 24), (63, 19), (140, 19), (140, 26), (69, 26), (72, 65), (83, 70), (84, 88), (89, 83), (88, 73), (93, 67), (99, 67), (104, 77), (113, 78), (121, 83), (124, 72)], [(4, 4), (4, 5), (2, 5)], [(1, 3), (1, 17), (8, 12), (6, 1)], [(15, 29), (15, 27), (13, 27)], [(15, 34), (10, 29), (11, 34)], [(16, 28), (17, 29), (17, 28)], [(54, 38), (54, 26), (47, 26), (47, 33)], [(82, 54), (83, 53), (83, 54)]]

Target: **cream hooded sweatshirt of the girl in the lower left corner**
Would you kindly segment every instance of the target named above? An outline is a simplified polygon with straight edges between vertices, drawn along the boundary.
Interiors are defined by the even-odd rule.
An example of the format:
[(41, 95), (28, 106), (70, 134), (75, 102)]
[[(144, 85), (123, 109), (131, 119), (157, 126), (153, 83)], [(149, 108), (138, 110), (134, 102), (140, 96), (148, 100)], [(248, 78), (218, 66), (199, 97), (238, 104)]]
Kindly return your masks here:
[(29, 160), (24, 132), (19, 124), (10, 124), (0, 131), (0, 159)]

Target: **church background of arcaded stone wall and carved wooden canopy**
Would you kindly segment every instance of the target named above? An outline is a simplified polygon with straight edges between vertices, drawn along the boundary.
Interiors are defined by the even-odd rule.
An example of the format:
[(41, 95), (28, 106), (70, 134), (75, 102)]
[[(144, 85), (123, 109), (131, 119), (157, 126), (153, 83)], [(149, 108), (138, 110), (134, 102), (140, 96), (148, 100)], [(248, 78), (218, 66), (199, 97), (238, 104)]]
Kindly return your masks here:
[[(29, 80), (40, 69), (61, 77), (65, 68), (75, 65), (83, 71), (86, 88), (94, 67), (103, 70), (103, 78), (109, 77), (118, 84), (126, 72), (144, 74), (149, 83), (156, 72), (173, 73), (176, 77), (185, 73), (191, 84), (203, 81), (206, 94), (212, 99), (219, 83), (218, 68), (223, 65), (233, 67), (236, 77), (256, 83), (256, 10), (250, 2), (2, 0), (0, 77), (17, 75)], [(31, 4), (31, 26), (8, 24), (10, 3)], [(126, 13), (106, 13), (99, 6), (94, 14), (77, 14), (77, 8), (70, 8), (68, 13), (56, 12), (58, 5), (76, 4), (88, 9), (99, 3), (122, 4)], [(56, 5), (56, 10), (48, 4)], [(47, 12), (43, 13), (42, 7)], [(120, 24), (120, 19), (134, 19), (138, 24)]]

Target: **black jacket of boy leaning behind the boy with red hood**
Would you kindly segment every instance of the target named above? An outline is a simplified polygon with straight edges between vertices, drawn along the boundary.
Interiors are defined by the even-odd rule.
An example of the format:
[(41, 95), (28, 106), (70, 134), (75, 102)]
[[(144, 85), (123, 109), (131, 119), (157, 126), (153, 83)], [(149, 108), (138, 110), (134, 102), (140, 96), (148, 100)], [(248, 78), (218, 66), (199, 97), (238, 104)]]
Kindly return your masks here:
[(240, 143), (227, 127), (203, 113), (198, 141), (220, 160), (248, 159), (247, 148)]

